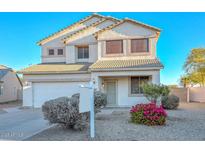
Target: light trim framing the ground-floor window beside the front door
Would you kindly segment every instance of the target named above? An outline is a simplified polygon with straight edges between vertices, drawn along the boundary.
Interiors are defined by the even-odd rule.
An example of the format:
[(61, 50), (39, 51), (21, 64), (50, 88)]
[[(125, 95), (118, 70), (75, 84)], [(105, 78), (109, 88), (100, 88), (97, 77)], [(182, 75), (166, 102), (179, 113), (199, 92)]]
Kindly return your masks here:
[(128, 97), (144, 97), (144, 94), (139, 93), (139, 94), (132, 94), (132, 89), (131, 89), (131, 78), (132, 77), (149, 77), (148, 83), (152, 82), (152, 75), (138, 75), (138, 76), (130, 76), (128, 78)]

